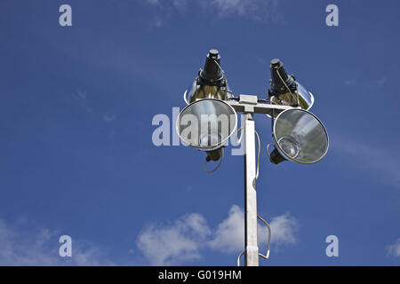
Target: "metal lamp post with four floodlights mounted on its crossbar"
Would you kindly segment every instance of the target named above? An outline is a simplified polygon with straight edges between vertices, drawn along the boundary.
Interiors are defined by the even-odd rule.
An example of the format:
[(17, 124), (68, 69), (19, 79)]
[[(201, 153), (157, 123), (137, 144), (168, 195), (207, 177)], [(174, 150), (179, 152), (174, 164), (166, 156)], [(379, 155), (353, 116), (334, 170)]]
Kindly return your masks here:
[[(220, 54), (211, 50), (207, 55), (204, 69), (184, 99), (188, 103), (180, 113), (177, 131), (180, 139), (188, 146), (196, 147), (207, 154), (206, 161), (221, 159), (221, 149), (236, 130), (236, 112), (244, 114), (244, 264), (258, 266), (259, 257), (268, 258), (259, 253), (257, 221), (257, 190), (255, 125), (254, 114), (267, 114), (272, 120), (272, 134), (276, 140), (276, 149), (269, 155), (275, 164), (283, 161), (303, 164), (318, 162), (328, 149), (328, 137), (322, 123), (314, 114), (307, 111), (314, 103), (314, 97), (297, 83), (294, 76), (286, 74), (279, 59), (271, 61), (271, 90), (268, 99), (258, 99), (254, 95), (241, 94), (233, 97), (228, 89), (225, 73), (220, 67)], [(188, 98), (187, 98), (188, 97)], [(234, 111), (233, 111), (234, 110)], [(202, 115), (214, 115), (207, 123), (198, 122)], [(220, 115), (234, 116), (228, 122), (228, 130), (214, 131), (209, 128)], [(190, 125), (185, 117), (194, 119)], [(216, 123), (218, 124), (218, 122)], [(202, 127), (206, 130), (200, 130)], [(190, 135), (184, 135), (190, 128)], [(225, 132), (225, 133), (222, 133)], [(259, 157), (260, 158), (260, 157)], [(261, 221), (266, 223), (262, 218)], [(267, 223), (266, 223), (267, 224)], [(269, 228), (269, 227), (268, 227)], [(239, 256), (239, 260), (240, 260)]]

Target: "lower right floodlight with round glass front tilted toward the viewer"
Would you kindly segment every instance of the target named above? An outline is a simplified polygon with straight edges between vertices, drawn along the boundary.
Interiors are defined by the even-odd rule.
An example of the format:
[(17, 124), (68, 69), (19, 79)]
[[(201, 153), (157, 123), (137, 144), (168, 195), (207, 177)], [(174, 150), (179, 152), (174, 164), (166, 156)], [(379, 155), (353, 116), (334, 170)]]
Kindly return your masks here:
[(276, 148), (269, 154), (275, 164), (290, 160), (302, 164), (320, 161), (328, 151), (329, 139), (316, 115), (290, 108), (277, 115), (273, 127)]

